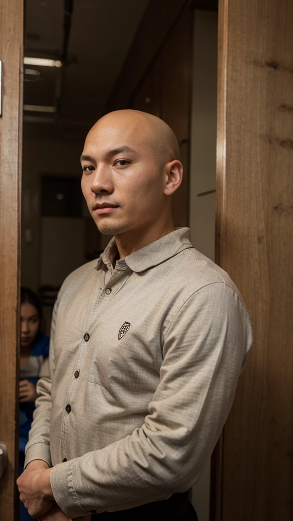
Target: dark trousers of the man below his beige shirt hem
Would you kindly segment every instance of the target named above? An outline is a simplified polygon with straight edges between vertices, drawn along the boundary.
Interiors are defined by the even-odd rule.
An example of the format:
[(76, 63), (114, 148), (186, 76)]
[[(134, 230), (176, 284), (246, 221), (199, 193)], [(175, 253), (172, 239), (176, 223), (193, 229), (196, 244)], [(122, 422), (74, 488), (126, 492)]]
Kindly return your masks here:
[(188, 492), (173, 494), (169, 499), (154, 501), (145, 505), (120, 510), (92, 514), (91, 521), (198, 521), (196, 511), (190, 501)]

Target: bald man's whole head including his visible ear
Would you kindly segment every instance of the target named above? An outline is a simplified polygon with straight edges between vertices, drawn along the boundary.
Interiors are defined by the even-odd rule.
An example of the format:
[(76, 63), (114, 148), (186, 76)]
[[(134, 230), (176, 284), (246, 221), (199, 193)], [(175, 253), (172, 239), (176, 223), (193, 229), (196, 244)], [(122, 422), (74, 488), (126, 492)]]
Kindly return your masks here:
[(172, 220), (182, 165), (161, 119), (137, 110), (107, 114), (88, 133), (80, 160), (82, 192), (101, 233), (144, 232)]

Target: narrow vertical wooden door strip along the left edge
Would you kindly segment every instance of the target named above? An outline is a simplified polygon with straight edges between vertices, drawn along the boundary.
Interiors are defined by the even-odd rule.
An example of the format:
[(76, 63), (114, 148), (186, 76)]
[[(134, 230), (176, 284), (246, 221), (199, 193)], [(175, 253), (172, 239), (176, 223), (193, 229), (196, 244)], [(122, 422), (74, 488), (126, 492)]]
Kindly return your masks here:
[(8, 463), (0, 479), (0, 519), (17, 519), (20, 171), (23, 2), (0, 0), (3, 115), (0, 118), (0, 440)]

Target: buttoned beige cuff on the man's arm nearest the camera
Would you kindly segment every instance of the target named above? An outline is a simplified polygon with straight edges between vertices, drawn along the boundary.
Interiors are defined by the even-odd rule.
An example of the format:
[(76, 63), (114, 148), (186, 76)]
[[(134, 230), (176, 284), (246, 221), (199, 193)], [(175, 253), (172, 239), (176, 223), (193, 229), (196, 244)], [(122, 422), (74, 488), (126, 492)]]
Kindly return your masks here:
[(81, 507), (74, 489), (73, 473), (75, 462), (76, 459), (55, 465), (50, 475), (54, 499), (64, 514), (70, 517), (70, 519), (90, 514), (89, 511)]

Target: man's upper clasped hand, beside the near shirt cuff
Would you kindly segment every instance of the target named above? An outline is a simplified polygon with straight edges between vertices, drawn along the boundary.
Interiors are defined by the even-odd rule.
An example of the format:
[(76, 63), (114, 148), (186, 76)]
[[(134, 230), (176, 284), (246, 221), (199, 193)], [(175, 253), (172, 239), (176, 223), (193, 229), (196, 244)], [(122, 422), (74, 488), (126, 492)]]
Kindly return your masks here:
[(51, 468), (43, 460), (34, 460), (17, 479), (20, 501), (32, 517), (46, 514), (54, 505), (50, 483)]

